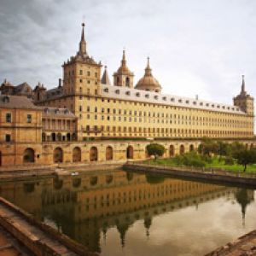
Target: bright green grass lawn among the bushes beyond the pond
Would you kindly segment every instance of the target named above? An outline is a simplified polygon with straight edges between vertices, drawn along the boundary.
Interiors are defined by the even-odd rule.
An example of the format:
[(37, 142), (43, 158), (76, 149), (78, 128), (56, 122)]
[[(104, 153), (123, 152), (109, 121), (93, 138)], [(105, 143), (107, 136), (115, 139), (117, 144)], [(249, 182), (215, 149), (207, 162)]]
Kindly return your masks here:
[[(175, 161), (170, 159), (158, 159), (158, 160), (146, 160), (146, 163), (154, 164), (154, 165), (166, 165), (166, 166), (177, 166)], [(230, 172), (243, 172), (243, 166), (241, 165), (225, 165), (224, 160), (218, 161), (218, 157), (212, 157), (212, 163), (208, 164), (206, 168), (219, 168), (225, 171)], [(256, 165), (248, 165), (247, 166), (247, 173), (249, 172), (256, 172)]]

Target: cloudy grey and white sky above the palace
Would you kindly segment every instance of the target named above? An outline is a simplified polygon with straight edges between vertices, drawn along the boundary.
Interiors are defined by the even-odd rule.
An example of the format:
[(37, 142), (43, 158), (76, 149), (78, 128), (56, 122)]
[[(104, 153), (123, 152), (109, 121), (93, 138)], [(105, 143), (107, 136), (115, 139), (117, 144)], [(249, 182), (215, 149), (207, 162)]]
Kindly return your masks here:
[(231, 103), (244, 74), (256, 95), (254, 0), (0, 0), (0, 82), (55, 87), (83, 20), (111, 77), (125, 47), (135, 83), (149, 56), (165, 93)]

